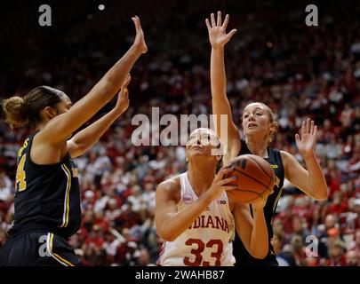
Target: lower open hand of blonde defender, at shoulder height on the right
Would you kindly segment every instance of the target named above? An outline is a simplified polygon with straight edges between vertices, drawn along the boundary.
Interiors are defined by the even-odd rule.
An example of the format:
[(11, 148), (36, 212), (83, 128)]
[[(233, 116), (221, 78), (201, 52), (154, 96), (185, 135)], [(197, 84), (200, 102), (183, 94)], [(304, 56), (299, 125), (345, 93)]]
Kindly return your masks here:
[(316, 146), (317, 126), (314, 121), (310, 122), (308, 118), (306, 122), (302, 122), (301, 136), (295, 134), (296, 146), (298, 146), (300, 154), (306, 158), (308, 155), (314, 154)]

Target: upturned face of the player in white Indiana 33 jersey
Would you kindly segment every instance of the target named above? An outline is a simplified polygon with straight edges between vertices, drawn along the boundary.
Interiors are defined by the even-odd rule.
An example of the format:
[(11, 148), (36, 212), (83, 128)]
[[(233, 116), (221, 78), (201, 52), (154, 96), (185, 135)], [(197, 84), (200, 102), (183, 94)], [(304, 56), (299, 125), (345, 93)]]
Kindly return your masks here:
[(220, 147), (220, 140), (214, 132), (207, 129), (194, 130), (188, 138), (188, 154), (211, 155), (212, 149)]

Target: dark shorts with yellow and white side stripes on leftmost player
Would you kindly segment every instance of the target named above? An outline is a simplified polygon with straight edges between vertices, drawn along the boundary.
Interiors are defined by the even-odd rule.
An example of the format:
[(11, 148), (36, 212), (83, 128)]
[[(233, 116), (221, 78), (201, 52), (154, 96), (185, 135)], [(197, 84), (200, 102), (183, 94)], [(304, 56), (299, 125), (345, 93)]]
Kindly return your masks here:
[(0, 266), (80, 264), (74, 249), (64, 238), (44, 230), (11, 235), (0, 248)]

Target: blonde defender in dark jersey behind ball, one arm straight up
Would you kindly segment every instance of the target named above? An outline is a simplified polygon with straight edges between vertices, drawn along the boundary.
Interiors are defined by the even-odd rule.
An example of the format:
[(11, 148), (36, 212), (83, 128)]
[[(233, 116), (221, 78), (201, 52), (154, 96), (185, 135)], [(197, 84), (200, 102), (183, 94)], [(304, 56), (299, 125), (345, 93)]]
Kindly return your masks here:
[[(244, 245), (236, 237), (234, 243), (236, 265), (278, 265), (274, 250), (270, 244), (273, 235), (271, 222), (277, 201), (282, 193), (284, 178), (287, 178), (292, 185), (295, 185), (302, 192), (316, 200), (325, 200), (327, 198), (324, 173), (316, 160), (315, 154), (317, 127), (313, 121), (308, 119), (306, 122), (302, 122), (300, 135), (295, 135), (296, 145), (300, 154), (304, 157), (307, 169), (304, 169), (292, 154), (270, 147), (270, 143), (276, 134), (277, 123), (274, 121), (271, 109), (262, 103), (256, 102), (245, 106), (242, 117), (245, 139), (240, 138), (236, 124), (232, 120), (231, 107), (226, 95), (224, 47), (236, 33), (236, 29), (231, 30), (228, 34), (226, 33), (228, 18), (227, 15), (224, 22), (221, 23), (221, 13), (218, 12), (216, 22), (214, 14), (211, 14), (211, 21), (205, 20), (210, 43), (212, 44), (212, 112), (213, 114), (219, 114), (215, 119), (215, 130), (225, 147), (223, 161), (227, 164), (239, 154), (257, 154), (268, 160), (277, 177), (274, 193), (268, 196), (264, 208), (269, 232), (268, 256), (261, 260), (253, 258), (246, 252)], [(220, 124), (220, 114), (227, 115), (227, 125)], [(221, 136), (222, 127), (227, 127), (228, 131)]]

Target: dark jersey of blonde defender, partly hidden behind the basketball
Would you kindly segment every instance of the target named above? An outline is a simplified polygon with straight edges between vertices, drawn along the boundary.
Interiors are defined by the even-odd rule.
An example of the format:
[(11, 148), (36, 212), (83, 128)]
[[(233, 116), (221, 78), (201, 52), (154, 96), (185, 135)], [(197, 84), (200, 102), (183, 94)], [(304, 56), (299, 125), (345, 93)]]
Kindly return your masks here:
[[(249, 148), (246, 146), (244, 140), (241, 141), (241, 154), (252, 154)], [(236, 234), (234, 241), (234, 256), (236, 257), (236, 265), (276, 265), (276, 257), (274, 249), (271, 245), (271, 238), (273, 237), (272, 220), (276, 211), (277, 202), (280, 199), (281, 193), (283, 193), (284, 185), (284, 164), (281, 158), (279, 150), (268, 147), (268, 158), (265, 159), (270, 163), (271, 167), (276, 174), (276, 185), (274, 186), (274, 193), (268, 195), (268, 201), (264, 207), (264, 216), (268, 226), (268, 256), (265, 259), (257, 259), (252, 257), (247, 249), (244, 247), (243, 242)], [(250, 205), (252, 212), (252, 206)]]

